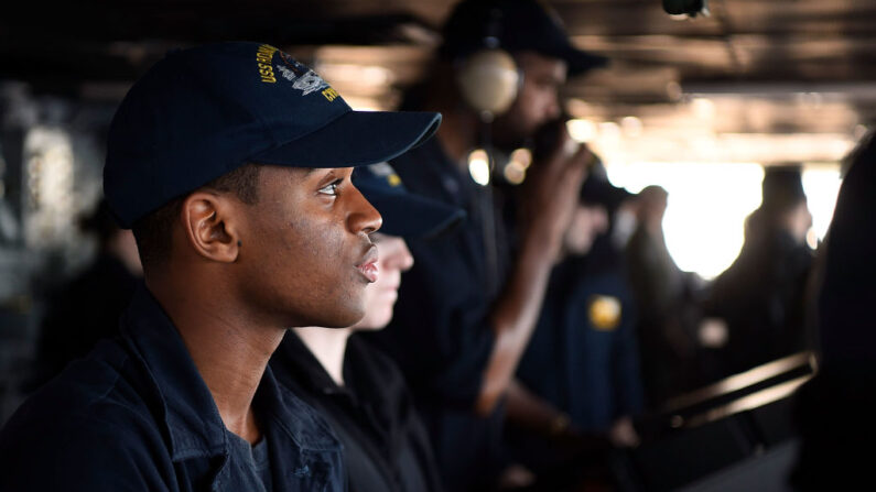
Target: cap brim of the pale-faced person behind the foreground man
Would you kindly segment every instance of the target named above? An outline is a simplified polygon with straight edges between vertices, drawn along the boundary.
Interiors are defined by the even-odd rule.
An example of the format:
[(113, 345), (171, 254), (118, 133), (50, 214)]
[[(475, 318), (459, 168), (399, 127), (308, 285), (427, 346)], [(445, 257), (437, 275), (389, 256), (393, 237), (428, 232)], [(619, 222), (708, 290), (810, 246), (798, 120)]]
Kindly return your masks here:
[(447, 232), (465, 219), (465, 211), (411, 193), (387, 194), (357, 185), (383, 217), (380, 231), (402, 238), (432, 238)]

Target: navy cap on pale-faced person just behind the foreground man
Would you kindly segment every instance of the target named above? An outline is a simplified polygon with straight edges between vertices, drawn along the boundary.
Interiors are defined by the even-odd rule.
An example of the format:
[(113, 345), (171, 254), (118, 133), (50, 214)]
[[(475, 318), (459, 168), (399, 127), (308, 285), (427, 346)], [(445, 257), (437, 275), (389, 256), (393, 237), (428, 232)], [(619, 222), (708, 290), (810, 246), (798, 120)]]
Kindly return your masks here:
[(357, 167), (353, 184), (383, 217), (380, 232), (431, 238), (457, 226), (465, 211), (409, 192), (389, 163)]

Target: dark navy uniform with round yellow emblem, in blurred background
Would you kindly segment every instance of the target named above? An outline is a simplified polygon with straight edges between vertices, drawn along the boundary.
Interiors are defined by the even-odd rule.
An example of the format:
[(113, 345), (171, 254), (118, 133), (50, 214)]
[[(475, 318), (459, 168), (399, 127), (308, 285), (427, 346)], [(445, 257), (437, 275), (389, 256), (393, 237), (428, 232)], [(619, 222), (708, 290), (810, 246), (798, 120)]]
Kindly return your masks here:
[[(604, 207), (602, 220), (607, 221), (605, 208), (613, 210), (618, 203), (594, 194), (592, 182), (582, 189), (582, 207)], [(610, 187), (607, 182), (602, 186)], [(604, 233), (588, 252), (566, 255), (551, 273), (518, 379), (567, 413), (580, 430), (607, 433), (619, 417), (642, 407), (635, 324), (623, 256)]]

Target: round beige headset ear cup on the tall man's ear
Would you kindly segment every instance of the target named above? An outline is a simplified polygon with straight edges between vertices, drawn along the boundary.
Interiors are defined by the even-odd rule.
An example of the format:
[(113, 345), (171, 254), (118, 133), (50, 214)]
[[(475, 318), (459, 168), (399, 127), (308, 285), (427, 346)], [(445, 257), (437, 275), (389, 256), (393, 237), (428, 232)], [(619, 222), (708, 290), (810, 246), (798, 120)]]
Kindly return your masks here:
[(495, 48), (468, 56), (456, 80), (463, 98), (472, 108), (493, 116), (508, 110), (522, 81), (513, 57)]

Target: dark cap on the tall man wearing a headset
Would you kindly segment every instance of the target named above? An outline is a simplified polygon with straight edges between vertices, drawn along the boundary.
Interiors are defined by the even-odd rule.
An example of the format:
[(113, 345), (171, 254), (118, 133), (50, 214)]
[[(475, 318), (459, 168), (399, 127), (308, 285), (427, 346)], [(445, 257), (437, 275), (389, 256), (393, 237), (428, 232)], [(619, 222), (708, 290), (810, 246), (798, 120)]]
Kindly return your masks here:
[(608, 58), (573, 46), (559, 15), (538, 0), (463, 0), (444, 23), (443, 36), (440, 52), (450, 59), (499, 47), (560, 58), (570, 75), (608, 64)]

